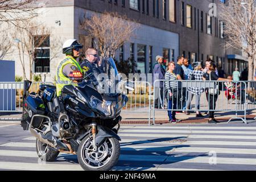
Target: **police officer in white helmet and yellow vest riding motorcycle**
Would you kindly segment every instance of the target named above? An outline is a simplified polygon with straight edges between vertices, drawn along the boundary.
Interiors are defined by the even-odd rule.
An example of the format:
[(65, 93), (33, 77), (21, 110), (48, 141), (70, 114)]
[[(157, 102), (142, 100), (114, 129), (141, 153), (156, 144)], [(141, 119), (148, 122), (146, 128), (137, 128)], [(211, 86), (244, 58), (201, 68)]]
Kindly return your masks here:
[[(61, 95), (61, 89), (65, 85), (77, 85), (76, 83), (83, 78), (83, 70), (76, 61), (82, 47), (76, 39), (69, 39), (63, 44), (63, 53), (65, 53), (66, 57), (57, 65), (56, 73), (56, 94), (58, 97)], [(80, 72), (81, 76), (70, 75), (71, 72)]]

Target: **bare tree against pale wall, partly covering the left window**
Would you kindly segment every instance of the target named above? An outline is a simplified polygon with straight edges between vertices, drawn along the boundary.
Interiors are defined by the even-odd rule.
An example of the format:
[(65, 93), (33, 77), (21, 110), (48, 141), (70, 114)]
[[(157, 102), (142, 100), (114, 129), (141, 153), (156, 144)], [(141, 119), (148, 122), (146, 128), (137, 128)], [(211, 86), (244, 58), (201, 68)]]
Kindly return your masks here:
[[(16, 28), (13, 39), (16, 40), (16, 48), (19, 51), (19, 61), (23, 68), (23, 77), (26, 77), (26, 67), (29, 68), (30, 80), (33, 74), (33, 64), (36, 57), (36, 47), (42, 47), (44, 42), (49, 39), (51, 31), (43, 24), (38, 24), (33, 20), (26, 23), (25, 28)], [(61, 38), (55, 38), (56, 41), (50, 44), (50, 62), (61, 53)], [(28, 59), (27, 59), (28, 58)], [(28, 63), (28, 64), (27, 64)]]

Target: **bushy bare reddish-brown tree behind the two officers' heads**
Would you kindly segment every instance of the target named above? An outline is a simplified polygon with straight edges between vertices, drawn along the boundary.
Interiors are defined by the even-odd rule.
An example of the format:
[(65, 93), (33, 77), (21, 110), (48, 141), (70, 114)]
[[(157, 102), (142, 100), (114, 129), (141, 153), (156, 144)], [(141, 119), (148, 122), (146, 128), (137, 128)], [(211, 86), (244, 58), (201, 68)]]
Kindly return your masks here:
[(94, 38), (101, 56), (114, 57), (115, 51), (128, 42), (138, 24), (131, 22), (126, 16), (117, 13), (104, 13), (92, 15), (82, 23), (88, 35)]

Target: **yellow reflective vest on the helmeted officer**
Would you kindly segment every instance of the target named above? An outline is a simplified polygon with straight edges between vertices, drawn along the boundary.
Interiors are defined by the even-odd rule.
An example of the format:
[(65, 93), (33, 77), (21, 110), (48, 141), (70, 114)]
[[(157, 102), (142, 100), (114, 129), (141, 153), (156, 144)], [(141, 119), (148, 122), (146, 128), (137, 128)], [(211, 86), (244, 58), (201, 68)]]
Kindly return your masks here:
[(66, 77), (65, 75), (63, 75), (63, 68), (67, 64), (75, 65), (75, 67), (77, 67), (77, 69), (82, 73), (82, 75), (84, 75), (83, 74), (84, 72), (83, 72), (82, 68), (80, 67), (79, 63), (77, 63), (77, 61), (72, 56), (66, 56), (65, 59), (63, 61), (60, 61), (60, 63), (57, 65), (57, 74), (56, 74), (56, 94), (57, 94), (57, 96), (61, 95), (61, 89), (65, 85), (77, 86), (77, 84), (75, 84), (73, 81), (71, 81), (69, 79), (69, 77)]

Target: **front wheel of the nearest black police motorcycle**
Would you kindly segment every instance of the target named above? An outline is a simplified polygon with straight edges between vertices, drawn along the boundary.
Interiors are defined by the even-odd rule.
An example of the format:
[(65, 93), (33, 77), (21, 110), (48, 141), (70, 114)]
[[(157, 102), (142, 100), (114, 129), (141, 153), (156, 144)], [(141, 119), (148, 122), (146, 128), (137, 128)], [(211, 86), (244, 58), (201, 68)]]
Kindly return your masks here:
[(79, 164), (86, 171), (109, 171), (118, 162), (119, 155), (120, 144), (115, 138), (106, 138), (97, 151), (93, 151), (92, 139), (87, 136), (77, 151)]

